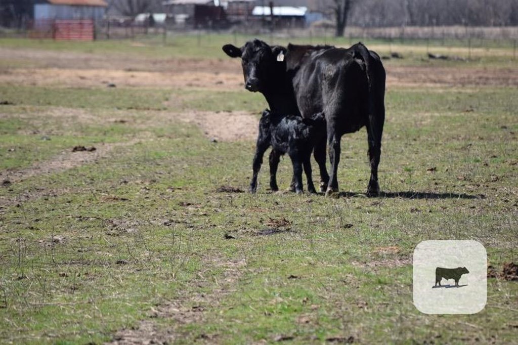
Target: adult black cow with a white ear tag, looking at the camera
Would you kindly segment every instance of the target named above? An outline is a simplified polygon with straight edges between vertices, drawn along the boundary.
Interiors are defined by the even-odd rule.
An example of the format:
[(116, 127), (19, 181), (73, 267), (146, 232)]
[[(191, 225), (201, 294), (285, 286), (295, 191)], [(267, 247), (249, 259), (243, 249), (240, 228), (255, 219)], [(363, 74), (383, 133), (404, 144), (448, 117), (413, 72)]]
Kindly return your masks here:
[[(261, 92), (271, 111), (326, 117), (331, 176), (325, 166), (325, 137), (314, 147), (320, 168), (321, 190), (338, 191), (340, 139), (365, 126), (371, 175), (367, 195), (378, 195), (378, 164), (385, 120), (385, 69), (381, 59), (361, 44), (349, 49), (330, 46), (268, 46), (255, 39), (243, 47), (223, 46), (231, 57), (241, 57), (244, 87)], [(276, 171), (279, 152), (272, 150), (270, 169)], [(327, 189), (326, 189), (327, 187)]]

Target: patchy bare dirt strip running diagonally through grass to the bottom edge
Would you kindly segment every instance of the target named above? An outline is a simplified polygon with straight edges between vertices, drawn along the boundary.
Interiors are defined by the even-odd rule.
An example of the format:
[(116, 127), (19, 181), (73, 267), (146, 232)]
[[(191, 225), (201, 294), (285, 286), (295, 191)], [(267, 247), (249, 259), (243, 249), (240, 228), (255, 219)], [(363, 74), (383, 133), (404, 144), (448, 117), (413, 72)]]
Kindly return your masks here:
[[(215, 265), (224, 268), (222, 279), (218, 280), (217, 287), (208, 294), (194, 294), (182, 296), (177, 300), (155, 306), (150, 310), (149, 319), (141, 320), (138, 325), (132, 328), (119, 330), (108, 344), (164, 344), (172, 343), (177, 339), (183, 339), (183, 335), (177, 332), (178, 326), (202, 322), (204, 319), (205, 306), (218, 306), (219, 301), (227, 294), (233, 292), (233, 287), (242, 275), (242, 268), (246, 261), (228, 261), (222, 257), (205, 258), (206, 265)], [(206, 285), (203, 272), (198, 274), (200, 281), (197, 285)], [(195, 284), (191, 284), (194, 286)], [(174, 326), (167, 329), (160, 327), (153, 321), (155, 318), (167, 318), (173, 320)], [(203, 335), (206, 342), (213, 342), (217, 334)]]

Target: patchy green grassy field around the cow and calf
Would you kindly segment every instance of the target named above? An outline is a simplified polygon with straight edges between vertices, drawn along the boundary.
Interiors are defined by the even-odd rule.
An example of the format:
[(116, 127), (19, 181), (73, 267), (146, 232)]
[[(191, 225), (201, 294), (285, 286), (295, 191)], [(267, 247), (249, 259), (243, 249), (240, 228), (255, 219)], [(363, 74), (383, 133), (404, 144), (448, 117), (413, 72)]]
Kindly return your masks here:
[[(271, 193), (267, 164), (251, 195), (253, 135), (210, 132), (266, 107), (221, 51), (246, 38), (201, 39), (0, 40), (0, 343), (516, 343), (516, 281), (489, 278), (473, 315), (412, 303), (420, 241), (478, 240), (498, 272), (518, 261), (515, 61), (367, 42), (406, 55), (385, 62), (389, 78), (451, 76), (390, 79), (382, 195), (364, 194), (365, 130), (342, 139), (336, 197)], [(236, 82), (209, 84), (210, 64)], [(192, 80), (107, 87), (118, 70)], [(53, 79), (64, 71), (79, 77)], [(204, 130), (202, 115), (219, 120)]]

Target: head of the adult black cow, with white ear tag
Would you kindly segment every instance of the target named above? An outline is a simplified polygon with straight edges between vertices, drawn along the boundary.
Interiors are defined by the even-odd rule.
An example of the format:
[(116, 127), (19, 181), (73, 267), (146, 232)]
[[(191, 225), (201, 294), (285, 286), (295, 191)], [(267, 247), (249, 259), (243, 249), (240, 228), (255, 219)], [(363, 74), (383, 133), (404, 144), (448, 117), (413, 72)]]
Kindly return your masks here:
[(223, 51), (230, 57), (241, 57), (243, 67), (244, 88), (252, 92), (263, 92), (279, 74), (286, 71), (284, 54), (286, 48), (268, 46), (265, 42), (254, 39), (241, 48), (228, 44)]

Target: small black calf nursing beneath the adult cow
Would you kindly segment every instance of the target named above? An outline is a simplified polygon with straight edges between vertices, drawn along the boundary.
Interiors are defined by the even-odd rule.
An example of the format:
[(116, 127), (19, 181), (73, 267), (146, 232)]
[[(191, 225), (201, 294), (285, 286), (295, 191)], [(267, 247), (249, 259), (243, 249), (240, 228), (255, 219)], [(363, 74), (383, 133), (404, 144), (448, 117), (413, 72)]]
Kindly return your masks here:
[[(271, 146), (279, 154), (287, 153), (293, 164), (293, 182), (296, 193), (303, 192), (302, 169), (308, 180), (308, 191), (316, 193), (311, 178), (311, 152), (315, 142), (324, 135), (325, 118), (317, 113), (311, 118), (303, 119), (300, 116), (288, 116), (263, 111), (259, 121), (259, 134), (253, 161), (253, 176), (250, 183), (250, 192), (257, 189), (257, 174), (263, 163), (263, 155)], [(276, 171), (270, 170), (270, 188), (277, 189)]]

